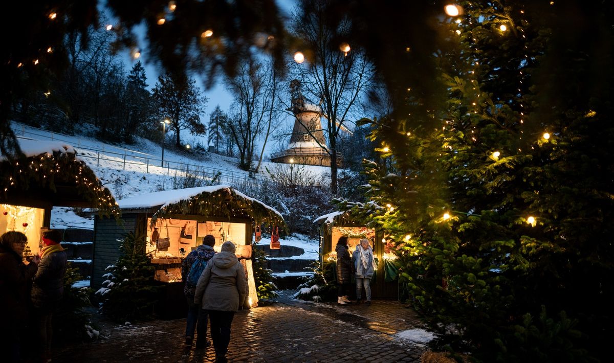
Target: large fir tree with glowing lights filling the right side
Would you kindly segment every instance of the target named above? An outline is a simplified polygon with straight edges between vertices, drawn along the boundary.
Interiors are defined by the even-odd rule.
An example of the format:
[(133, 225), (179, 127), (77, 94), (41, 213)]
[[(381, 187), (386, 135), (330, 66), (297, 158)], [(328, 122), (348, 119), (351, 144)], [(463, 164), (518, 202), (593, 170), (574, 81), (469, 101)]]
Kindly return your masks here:
[(462, 2), (445, 105), (408, 88), (421, 112), (371, 135), (395, 169), (365, 163), (373, 223), (439, 342), (480, 361), (599, 359), (612, 331), (612, 5), (572, 5)]

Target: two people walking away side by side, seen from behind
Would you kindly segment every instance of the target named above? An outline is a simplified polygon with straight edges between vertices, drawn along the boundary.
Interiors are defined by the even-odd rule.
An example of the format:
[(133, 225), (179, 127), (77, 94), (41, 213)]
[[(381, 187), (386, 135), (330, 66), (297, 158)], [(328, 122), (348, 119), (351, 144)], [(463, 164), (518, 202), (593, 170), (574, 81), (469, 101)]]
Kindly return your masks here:
[[(188, 299), (188, 319), (185, 328), (185, 343), (192, 345), (196, 327), (196, 348), (206, 348), (207, 324), (211, 323), (211, 339), (216, 350), (216, 362), (226, 362), (230, 343), (230, 327), (236, 311), (247, 297), (247, 278), (243, 265), (236, 258), (235, 244), (224, 242), (219, 253), (213, 251), (215, 237), (206, 235), (203, 245), (198, 246), (182, 264), (185, 296)], [(190, 270), (197, 268), (198, 258), (206, 266), (193, 284)], [(202, 266), (202, 265), (201, 265)], [(198, 309), (198, 310), (196, 310)]]

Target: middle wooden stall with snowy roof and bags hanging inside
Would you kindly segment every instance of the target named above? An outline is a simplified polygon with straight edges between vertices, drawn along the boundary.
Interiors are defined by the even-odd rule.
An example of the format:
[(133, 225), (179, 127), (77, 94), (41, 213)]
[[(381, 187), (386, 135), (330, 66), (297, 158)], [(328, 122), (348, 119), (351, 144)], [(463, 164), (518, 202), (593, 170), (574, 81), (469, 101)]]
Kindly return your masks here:
[(128, 232), (146, 236), (144, 253), (156, 267), (155, 280), (165, 288), (166, 302), (158, 309), (161, 316), (172, 316), (161, 309), (185, 313), (181, 281), (181, 262), (208, 234), (216, 237), (214, 250), (230, 240), (246, 269), (249, 299), (246, 307), (258, 302), (252, 270), (252, 235), (262, 224), (285, 229), (281, 214), (228, 185), (203, 186), (147, 193), (119, 201), (123, 225), (95, 218), (94, 256), (91, 286), (101, 286), (106, 267), (120, 257), (120, 240)]

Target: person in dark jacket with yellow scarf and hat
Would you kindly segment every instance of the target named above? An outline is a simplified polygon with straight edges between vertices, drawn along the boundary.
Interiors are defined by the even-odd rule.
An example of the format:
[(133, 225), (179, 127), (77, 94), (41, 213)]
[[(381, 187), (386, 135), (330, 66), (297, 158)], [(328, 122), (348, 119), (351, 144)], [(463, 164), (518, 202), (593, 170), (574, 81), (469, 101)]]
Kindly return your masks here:
[(62, 234), (56, 229), (42, 235), (44, 247), (39, 252), (39, 263), (32, 285), (33, 329), (37, 335), (37, 360), (51, 361), (53, 334), (53, 312), (60, 306), (64, 295), (64, 273), (66, 273), (66, 252), (60, 245)]

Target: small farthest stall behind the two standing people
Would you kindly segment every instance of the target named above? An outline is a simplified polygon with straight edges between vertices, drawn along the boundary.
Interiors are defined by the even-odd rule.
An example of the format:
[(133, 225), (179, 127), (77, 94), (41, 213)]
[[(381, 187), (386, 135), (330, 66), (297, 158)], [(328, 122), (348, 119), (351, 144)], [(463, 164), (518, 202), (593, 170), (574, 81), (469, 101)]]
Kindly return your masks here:
[[(339, 237), (348, 237), (349, 254), (352, 256), (360, 239), (369, 240), (377, 269), (371, 279), (371, 296), (374, 299), (398, 299), (398, 277), (394, 253), (389, 249), (384, 231), (367, 227), (365, 223), (353, 219), (349, 212), (333, 212), (314, 220), (320, 229), (320, 263), (322, 269), (335, 269), (335, 246)], [(353, 280), (353, 279), (352, 279)], [(356, 288), (352, 285), (352, 296)]]

